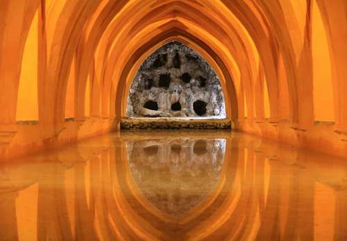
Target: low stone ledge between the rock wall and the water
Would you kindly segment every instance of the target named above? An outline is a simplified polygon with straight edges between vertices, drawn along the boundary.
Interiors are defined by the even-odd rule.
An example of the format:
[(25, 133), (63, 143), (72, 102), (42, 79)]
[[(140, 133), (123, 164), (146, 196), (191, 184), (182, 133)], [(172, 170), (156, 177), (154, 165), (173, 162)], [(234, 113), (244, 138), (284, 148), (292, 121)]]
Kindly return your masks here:
[(121, 130), (230, 130), (230, 119), (219, 118), (122, 118)]

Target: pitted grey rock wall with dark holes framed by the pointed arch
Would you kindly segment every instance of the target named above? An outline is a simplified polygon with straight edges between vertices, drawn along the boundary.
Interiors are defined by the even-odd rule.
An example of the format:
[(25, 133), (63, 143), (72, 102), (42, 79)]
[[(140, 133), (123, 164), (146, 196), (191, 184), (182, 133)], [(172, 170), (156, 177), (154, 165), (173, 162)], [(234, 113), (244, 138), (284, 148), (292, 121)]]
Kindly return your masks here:
[(165, 44), (139, 67), (130, 87), (127, 115), (224, 117), (219, 78), (191, 48), (176, 41)]

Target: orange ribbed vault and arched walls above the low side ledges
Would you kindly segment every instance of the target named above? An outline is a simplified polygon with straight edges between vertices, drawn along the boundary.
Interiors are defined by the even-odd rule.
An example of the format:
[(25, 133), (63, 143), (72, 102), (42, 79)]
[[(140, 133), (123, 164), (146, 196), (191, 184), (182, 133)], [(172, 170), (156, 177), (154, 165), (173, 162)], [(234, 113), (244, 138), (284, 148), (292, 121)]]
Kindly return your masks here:
[(346, 9), (344, 0), (1, 1), (0, 121), (28, 111), (19, 99), (30, 66), (41, 123), (119, 120), (139, 65), (176, 39), (217, 71), (232, 120), (347, 130)]

